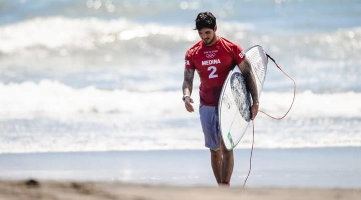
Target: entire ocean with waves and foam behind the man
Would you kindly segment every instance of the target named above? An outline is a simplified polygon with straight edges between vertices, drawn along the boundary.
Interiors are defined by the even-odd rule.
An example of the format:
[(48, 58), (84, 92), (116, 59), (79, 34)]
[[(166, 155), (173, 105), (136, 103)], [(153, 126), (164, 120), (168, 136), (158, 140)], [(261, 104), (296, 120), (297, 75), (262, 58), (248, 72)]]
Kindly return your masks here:
[[(205, 149), (182, 101), (194, 18), (259, 44), (297, 83), (256, 148), (361, 146), (359, 0), (0, 0), (0, 152)], [(260, 109), (289, 107), (269, 62)], [(251, 128), (237, 148), (249, 148)]]

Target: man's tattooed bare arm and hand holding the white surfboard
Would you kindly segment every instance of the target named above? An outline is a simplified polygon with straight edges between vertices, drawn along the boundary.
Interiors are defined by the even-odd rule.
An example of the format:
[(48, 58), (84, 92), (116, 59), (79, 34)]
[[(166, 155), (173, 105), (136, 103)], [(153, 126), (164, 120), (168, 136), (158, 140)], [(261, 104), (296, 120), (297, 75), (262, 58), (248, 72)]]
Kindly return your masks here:
[(253, 120), (257, 115), (259, 104), (256, 79), (254, 78), (251, 63), (247, 57), (241, 63), (239, 63), (238, 66), (240, 67), (242, 74), (245, 77), (247, 89), (252, 96), (253, 105), (251, 107), (251, 119)]

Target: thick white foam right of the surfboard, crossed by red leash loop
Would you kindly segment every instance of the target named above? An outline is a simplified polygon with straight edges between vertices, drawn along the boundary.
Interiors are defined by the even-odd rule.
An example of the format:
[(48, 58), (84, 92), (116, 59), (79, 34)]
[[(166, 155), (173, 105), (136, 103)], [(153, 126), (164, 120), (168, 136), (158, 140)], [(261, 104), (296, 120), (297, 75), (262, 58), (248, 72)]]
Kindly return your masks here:
[[(264, 92), (260, 109), (280, 116), (290, 106), (293, 93)], [(313, 93), (306, 90), (296, 94), (290, 116), (302, 117), (360, 117), (361, 93)]]

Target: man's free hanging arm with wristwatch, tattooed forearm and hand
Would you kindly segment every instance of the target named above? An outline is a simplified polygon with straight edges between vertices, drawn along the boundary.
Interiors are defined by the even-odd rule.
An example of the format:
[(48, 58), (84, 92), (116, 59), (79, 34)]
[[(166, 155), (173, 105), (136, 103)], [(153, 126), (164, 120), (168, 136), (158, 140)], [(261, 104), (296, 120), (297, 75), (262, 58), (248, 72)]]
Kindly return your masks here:
[(184, 81), (183, 81), (183, 95), (187, 96), (185, 99), (185, 106), (189, 112), (193, 112), (194, 108), (191, 103), (193, 103), (193, 99), (191, 98), (192, 90), (193, 90), (193, 78), (194, 78), (194, 69), (185, 69), (184, 72)]

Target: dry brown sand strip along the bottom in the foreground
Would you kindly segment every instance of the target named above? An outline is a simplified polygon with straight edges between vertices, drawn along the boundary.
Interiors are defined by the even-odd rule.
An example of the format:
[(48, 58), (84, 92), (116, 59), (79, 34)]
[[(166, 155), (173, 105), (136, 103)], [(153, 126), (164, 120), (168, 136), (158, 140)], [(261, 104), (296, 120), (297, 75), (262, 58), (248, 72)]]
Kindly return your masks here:
[(0, 199), (360, 199), (361, 189), (171, 186), (1, 180)]

